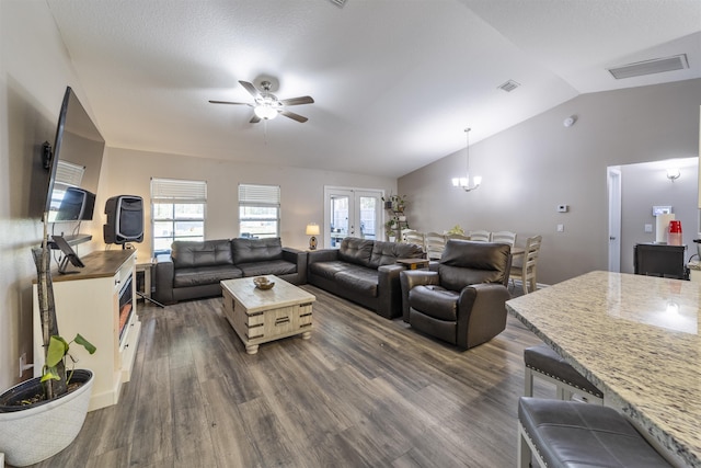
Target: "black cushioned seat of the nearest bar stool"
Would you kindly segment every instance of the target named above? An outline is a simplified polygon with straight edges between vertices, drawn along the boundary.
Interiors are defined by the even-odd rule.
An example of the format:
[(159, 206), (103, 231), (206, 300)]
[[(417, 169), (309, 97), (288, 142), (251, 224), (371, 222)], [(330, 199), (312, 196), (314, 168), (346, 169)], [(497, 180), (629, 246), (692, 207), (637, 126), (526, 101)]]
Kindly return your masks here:
[(671, 466), (612, 408), (521, 397), (518, 422), (520, 468), (533, 453), (541, 467)]

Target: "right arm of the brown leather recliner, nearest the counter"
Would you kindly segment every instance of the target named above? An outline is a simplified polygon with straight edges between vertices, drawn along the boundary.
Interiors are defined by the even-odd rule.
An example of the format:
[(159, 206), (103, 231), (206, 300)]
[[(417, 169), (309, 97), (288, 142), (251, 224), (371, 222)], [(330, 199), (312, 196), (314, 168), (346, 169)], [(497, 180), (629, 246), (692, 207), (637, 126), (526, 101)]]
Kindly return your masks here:
[(457, 345), (467, 350), (490, 341), (506, 329), (506, 301), (503, 284), (482, 283), (466, 286), (458, 300)]

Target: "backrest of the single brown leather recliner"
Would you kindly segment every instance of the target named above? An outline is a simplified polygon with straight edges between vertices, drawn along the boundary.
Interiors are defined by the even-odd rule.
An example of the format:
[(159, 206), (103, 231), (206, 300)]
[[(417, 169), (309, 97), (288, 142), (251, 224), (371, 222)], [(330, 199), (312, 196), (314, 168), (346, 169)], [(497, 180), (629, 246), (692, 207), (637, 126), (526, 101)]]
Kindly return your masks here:
[(508, 285), (512, 247), (506, 243), (448, 240), (438, 264), (440, 285), (461, 290), (479, 283)]

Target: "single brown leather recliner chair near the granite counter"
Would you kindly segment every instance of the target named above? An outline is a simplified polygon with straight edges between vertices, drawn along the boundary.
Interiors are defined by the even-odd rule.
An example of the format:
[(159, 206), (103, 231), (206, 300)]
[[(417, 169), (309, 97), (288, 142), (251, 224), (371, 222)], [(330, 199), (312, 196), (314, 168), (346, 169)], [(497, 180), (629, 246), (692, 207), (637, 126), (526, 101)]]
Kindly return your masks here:
[(506, 328), (510, 246), (448, 240), (430, 270), (403, 271), (405, 322), (468, 350)]

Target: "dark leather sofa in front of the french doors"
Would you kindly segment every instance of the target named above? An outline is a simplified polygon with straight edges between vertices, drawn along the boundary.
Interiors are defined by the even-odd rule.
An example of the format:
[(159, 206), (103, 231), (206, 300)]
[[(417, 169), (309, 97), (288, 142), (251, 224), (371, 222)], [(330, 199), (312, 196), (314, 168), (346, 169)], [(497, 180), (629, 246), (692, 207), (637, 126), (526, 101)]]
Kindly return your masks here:
[(397, 260), (423, 258), (423, 249), (412, 243), (348, 237), (338, 249), (309, 252), (307, 281), (393, 319), (402, 315), (399, 274), (406, 270)]

